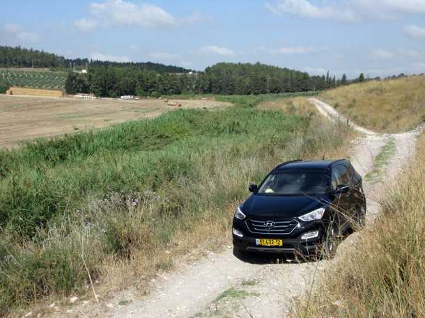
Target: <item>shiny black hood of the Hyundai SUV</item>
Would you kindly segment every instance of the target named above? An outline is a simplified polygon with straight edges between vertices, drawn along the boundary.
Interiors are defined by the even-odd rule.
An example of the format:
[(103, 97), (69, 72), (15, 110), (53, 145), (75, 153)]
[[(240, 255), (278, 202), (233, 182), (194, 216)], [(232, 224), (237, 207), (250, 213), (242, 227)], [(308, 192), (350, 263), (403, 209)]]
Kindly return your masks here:
[(263, 196), (253, 194), (240, 207), (247, 216), (260, 218), (293, 218), (302, 216), (329, 202), (327, 195), (307, 196)]

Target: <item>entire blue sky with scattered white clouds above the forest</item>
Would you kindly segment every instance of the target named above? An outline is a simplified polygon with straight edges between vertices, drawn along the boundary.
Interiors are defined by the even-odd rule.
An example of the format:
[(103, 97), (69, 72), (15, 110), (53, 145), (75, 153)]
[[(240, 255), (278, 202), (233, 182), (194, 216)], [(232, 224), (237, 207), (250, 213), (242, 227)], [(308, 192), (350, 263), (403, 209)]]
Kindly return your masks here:
[(14, 0), (1, 11), (0, 45), (67, 58), (425, 72), (425, 0)]

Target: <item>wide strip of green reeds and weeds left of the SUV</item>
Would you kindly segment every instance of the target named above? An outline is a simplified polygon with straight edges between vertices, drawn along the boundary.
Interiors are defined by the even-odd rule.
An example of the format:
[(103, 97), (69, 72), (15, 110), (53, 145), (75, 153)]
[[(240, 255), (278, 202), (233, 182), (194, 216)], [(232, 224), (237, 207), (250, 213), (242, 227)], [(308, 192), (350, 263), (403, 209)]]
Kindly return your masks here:
[(0, 316), (86, 293), (86, 269), (101, 285), (145, 290), (176, 255), (229, 241), (248, 182), (287, 159), (332, 157), (349, 134), (256, 109), (261, 97), (223, 98), (238, 106), (1, 151)]

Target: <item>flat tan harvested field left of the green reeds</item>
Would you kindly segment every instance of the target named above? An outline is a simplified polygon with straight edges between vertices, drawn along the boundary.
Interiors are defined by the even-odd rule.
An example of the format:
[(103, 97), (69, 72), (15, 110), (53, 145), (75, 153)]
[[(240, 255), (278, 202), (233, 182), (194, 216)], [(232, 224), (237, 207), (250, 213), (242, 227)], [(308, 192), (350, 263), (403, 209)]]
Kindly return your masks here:
[(173, 100), (181, 107), (167, 106), (163, 100), (76, 100), (72, 98), (0, 95), (0, 148), (20, 142), (101, 128), (128, 120), (154, 118), (175, 109), (229, 106), (212, 100)]

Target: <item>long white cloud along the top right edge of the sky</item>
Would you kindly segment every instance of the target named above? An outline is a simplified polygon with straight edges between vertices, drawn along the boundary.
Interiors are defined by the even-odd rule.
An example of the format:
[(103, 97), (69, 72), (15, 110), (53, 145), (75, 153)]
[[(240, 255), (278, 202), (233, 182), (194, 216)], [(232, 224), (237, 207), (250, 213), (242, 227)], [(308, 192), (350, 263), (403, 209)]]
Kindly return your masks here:
[(265, 3), (274, 15), (290, 14), (295, 17), (334, 19), (357, 22), (364, 18), (393, 19), (399, 15), (425, 13), (423, 0), (279, 0), (275, 6)]

